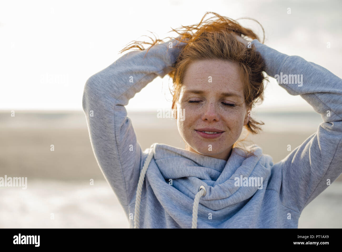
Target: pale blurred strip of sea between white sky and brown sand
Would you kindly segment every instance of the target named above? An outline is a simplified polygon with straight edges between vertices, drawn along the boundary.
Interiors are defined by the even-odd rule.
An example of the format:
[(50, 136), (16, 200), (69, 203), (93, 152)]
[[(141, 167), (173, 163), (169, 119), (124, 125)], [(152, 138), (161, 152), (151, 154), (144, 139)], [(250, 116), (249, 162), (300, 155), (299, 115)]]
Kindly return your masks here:
[[(14, 117), (12, 117), (14, 111)], [(158, 112), (170, 110), (127, 110), (134, 128), (178, 130), (176, 119), (159, 118)], [(161, 114), (163, 116), (163, 112)], [(167, 114), (164, 114), (167, 116)], [(186, 114), (185, 114), (186, 116)], [(252, 109), (251, 117), (261, 120), (266, 132), (315, 132), (323, 122), (320, 114), (312, 111)], [(171, 120), (171, 121), (170, 121)], [(0, 128), (87, 128), (83, 110), (0, 110)], [(177, 132), (176, 132), (177, 133)]]

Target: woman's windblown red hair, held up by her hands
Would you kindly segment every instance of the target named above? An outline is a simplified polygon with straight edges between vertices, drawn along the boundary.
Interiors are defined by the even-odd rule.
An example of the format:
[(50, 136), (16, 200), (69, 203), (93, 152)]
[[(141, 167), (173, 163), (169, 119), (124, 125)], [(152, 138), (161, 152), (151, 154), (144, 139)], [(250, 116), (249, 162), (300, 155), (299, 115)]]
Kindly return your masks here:
[[(203, 19), (209, 13), (214, 14), (217, 17), (216, 20), (211, 20), (213, 18), (211, 17), (203, 22)], [(261, 26), (258, 21), (252, 18), (243, 19), (253, 20)], [(181, 30), (183, 28), (185, 30)], [(262, 26), (261, 28), (264, 33)], [(180, 88), (188, 64), (198, 60), (219, 59), (236, 63), (238, 65), (241, 82), (244, 84), (246, 106), (254, 108), (258, 101), (263, 101), (263, 81), (268, 81), (263, 74), (263, 71), (265, 71), (265, 63), (253, 45), (246, 47), (235, 37), (235, 35), (238, 35), (245, 39), (258, 39), (260, 41), (259, 37), (252, 30), (242, 27), (237, 21), (231, 18), (221, 16), (214, 12), (206, 12), (198, 24), (182, 26), (177, 29), (172, 28), (172, 30), (180, 35), (175, 38), (176, 40), (187, 43), (182, 48), (176, 62), (172, 65), (172, 71), (168, 73), (173, 80), (173, 90), (171, 90), (173, 96), (172, 109), (174, 109), (175, 103), (179, 98)], [(171, 37), (167, 38), (172, 39)], [(264, 39), (262, 43), (264, 43)], [(154, 46), (158, 42), (163, 43), (164, 41), (155, 39), (153, 43), (144, 43)], [(134, 47), (145, 50), (143, 47), (140, 47), (142, 42), (135, 41), (135, 43), (136, 45), (127, 46), (120, 52)], [(262, 131), (258, 125), (263, 124), (263, 122), (257, 122), (250, 117), (248, 124), (245, 126), (250, 133), (258, 134)]]

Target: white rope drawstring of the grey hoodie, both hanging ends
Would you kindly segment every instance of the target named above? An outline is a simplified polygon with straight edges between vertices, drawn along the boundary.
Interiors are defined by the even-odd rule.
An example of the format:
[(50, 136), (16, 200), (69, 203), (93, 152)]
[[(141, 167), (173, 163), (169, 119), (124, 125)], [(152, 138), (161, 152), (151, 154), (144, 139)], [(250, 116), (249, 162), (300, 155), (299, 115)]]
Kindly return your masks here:
[[(152, 157), (155, 153), (156, 144), (153, 146), (153, 148), (150, 150), (145, 163), (143, 165), (143, 168), (141, 169), (139, 181), (138, 181), (138, 188), (136, 189), (136, 197), (135, 197), (135, 209), (134, 209), (134, 228), (140, 228), (139, 225), (139, 218), (140, 218), (140, 202), (141, 202), (141, 191), (143, 188), (143, 183), (145, 179), (145, 174), (147, 171), (147, 168), (152, 160)], [(207, 190), (204, 186), (200, 186), (198, 192), (196, 193), (195, 199), (194, 199), (194, 206), (193, 206), (193, 219), (192, 219), (192, 227), (191, 228), (197, 228), (197, 212), (198, 212), (198, 204), (199, 204), (199, 198), (206, 196)]]

